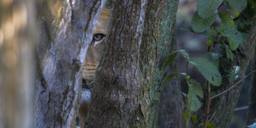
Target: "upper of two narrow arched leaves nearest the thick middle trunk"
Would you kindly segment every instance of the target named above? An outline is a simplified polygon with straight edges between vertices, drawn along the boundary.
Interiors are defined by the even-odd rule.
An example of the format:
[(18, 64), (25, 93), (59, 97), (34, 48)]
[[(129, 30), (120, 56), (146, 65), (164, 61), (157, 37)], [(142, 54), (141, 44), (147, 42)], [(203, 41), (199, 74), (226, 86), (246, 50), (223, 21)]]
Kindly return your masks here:
[(165, 61), (163, 62), (163, 65), (162, 65), (162, 67), (161, 67), (161, 70), (165, 70), (166, 67), (167, 67), (168, 65), (170, 65), (171, 62), (173, 62), (173, 60), (174, 60), (174, 58), (176, 57), (176, 55), (177, 55), (178, 52), (180, 52), (180, 53), (183, 55), (183, 57), (184, 57), (185, 59), (189, 59), (189, 54), (187, 54), (187, 52), (186, 52), (185, 50), (183, 50), (183, 49), (176, 50), (176, 51), (172, 52), (170, 55), (168, 55), (168, 56), (166, 57)]

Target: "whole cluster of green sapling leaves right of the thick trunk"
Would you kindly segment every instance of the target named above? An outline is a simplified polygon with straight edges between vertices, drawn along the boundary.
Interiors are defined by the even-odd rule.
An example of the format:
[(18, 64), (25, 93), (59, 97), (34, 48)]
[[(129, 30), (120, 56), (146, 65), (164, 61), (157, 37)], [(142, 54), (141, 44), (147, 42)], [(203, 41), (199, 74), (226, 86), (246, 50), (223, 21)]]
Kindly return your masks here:
[[(248, 0), (253, 7), (255, 2)], [(221, 6), (226, 6), (230, 14), (219, 12), (218, 9)], [(165, 70), (168, 65), (174, 60), (178, 53), (186, 59), (187, 64), (192, 64), (197, 67), (198, 71), (204, 76), (204, 78), (210, 83), (211, 86), (220, 86), (222, 82), (221, 74), (218, 71), (219, 57), (223, 55), (227, 56), (228, 62), (234, 61), (233, 52), (237, 50), (244, 43), (242, 34), (237, 30), (234, 18), (238, 17), (247, 6), (247, 0), (197, 0), (197, 11), (191, 21), (191, 26), (185, 26), (180, 28), (181, 31), (189, 31), (197, 34), (204, 35), (208, 38), (206, 45), (208, 46), (208, 52), (202, 57), (189, 58), (189, 54), (185, 50), (177, 50), (172, 52), (166, 57), (161, 67)], [(220, 26), (213, 26), (216, 18), (221, 19)], [(218, 44), (216, 52), (214, 47)], [(225, 48), (225, 50), (223, 50)], [(239, 66), (234, 66), (234, 70), (228, 75), (230, 83), (234, 84), (238, 78), (237, 72)], [(187, 126), (189, 126), (190, 120), (196, 124), (204, 125), (205, 122), (197, 122), (197, 117), (192, 113), (196, 112), (202, 105), (199, 98), (203, 98), (202, 86), (196, 81), (190, 79), (187, 73), (172, 73), (166, 76), (161, 84), (161, 88), (167, 85), (175, 76), (181, 74), (185, 77), (187, 86), (189, 87), (188, 93), (182, 93), (186, 97), (186, 106), (183, 112), (183, 118), (186, 120)], [(208, 92), (210, 93), (210, 92)], [(211, 97), (209, 97), (211, 98)], [(215, 128), (216, 126), (209, 124), (204, 125), (207, 128)]]

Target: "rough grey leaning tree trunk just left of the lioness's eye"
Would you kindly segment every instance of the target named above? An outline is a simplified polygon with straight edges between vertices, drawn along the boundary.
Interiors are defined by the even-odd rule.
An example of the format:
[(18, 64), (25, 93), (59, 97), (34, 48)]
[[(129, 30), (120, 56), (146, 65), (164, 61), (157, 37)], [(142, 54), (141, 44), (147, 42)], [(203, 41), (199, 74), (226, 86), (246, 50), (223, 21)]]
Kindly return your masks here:
[[(41, 12), (46, 11), (45, 0), (40, 2), (44, 4)], [(64, 2), (65, 7), (57, 22), (55, 36), (49, 37), (52, 42), (43, 55), (39, 69), (35, 93), (35, 127), (74, 127), (75, 117), (78, 116), (75, 114), (79, 103), (81, 69), (104, 2), (105, 0)], [(38, 13), (40, 17), (40, 11)], [(42, 17), (46, 20), (48, 18), (44, 15)], [(49, 27), (50, 24), (47, 25)], [(49, 31), (43, 32), (49, 34)]]

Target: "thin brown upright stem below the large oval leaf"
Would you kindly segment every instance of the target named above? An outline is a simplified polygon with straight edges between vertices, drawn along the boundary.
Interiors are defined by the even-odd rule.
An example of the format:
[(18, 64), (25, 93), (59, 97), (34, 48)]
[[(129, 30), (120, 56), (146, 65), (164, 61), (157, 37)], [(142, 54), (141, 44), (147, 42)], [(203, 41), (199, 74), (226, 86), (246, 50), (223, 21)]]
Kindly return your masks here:
[(207, 81), (207, 100), (206, 100), (206, 109), (204, 112), (204, 126), (206, 128), (209, 118), (209, 111), (210, 111), (210, 104), (211, 104), (211, 83)]

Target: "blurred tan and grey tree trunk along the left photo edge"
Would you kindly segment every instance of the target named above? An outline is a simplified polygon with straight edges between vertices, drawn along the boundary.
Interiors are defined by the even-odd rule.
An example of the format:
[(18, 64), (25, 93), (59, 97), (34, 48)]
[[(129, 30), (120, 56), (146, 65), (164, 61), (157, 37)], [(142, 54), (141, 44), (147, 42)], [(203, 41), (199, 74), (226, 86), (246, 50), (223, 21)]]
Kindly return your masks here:
[(32, 128), (33, 0), (0, 1), (0, 128)]

